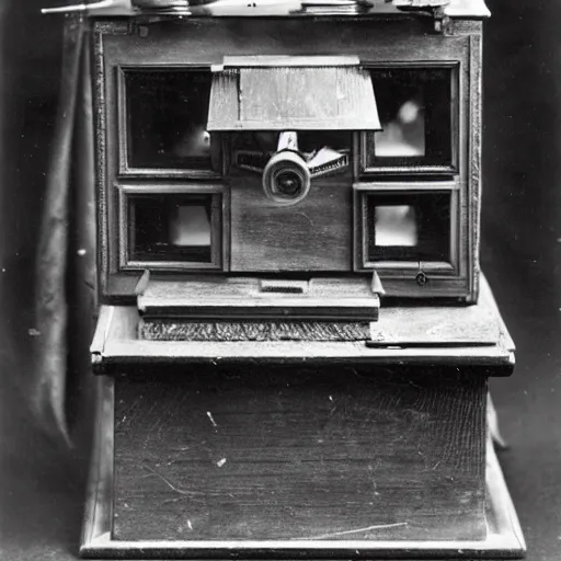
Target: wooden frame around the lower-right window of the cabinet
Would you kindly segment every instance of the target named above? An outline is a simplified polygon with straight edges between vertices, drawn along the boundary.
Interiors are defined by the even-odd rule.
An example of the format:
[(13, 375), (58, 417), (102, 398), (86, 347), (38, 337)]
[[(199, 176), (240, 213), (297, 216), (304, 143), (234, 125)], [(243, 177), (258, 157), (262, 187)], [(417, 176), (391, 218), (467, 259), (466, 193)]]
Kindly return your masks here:
[[(458, 182), (369, 182), (355, 183), (354, 187), (354, 268), (357, 272), (376, 270), (378, 273), (397, 276), (415, 276), (419, 272), (431, 275), (458, 276), (459, 275), (459, 191)], [(391, 196), (402, 195), (434, 195), (449, 194), (450, 196), (450, 225), (449, 225), (449, 262), (440, 261), (368, 261), (368, 195)]]

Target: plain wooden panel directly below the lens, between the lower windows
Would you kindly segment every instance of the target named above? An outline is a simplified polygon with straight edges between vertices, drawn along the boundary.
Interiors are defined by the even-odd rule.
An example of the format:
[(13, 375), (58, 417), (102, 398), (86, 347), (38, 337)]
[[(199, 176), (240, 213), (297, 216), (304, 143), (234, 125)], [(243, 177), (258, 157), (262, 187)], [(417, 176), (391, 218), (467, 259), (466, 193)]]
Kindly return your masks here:
[(278, 206), (260, 178), (231, 181), (231, 271), (352, 271), (350, 181), (312, 181), (295, 206)]

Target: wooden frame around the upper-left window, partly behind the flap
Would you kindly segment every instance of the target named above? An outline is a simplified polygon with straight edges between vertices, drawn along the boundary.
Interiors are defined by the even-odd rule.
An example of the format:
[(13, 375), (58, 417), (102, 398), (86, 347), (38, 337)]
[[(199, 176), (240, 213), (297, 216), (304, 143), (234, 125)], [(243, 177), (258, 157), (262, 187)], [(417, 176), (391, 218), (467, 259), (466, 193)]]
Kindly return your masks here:
[(190, 71), (203, 71), (208, 70), (211, 76), (209, 66), (201, 65), (185, 65), (185, 66), (151, 66), (151, 65), (123, 65), (117, 66), (115, 69), (117, 80), (117, 100), (118, 100), (118, 173), (121, 176), (134, 176), (134, 178), (185, 178), (191, 180), (216, 180), (225, 174), (225, 146), (224, 140), (220, 138), (219, 142), (219, 171), (213, 169), (197, 169), (197, 168), (167, 168), (154, 167), (154, 168), (141, 168), (129, 165), (129, 146), (128, 146), (128, 110), (127, 110), (127, 87), (126, 87), (126, 73), (127, 72), (190, 72)]

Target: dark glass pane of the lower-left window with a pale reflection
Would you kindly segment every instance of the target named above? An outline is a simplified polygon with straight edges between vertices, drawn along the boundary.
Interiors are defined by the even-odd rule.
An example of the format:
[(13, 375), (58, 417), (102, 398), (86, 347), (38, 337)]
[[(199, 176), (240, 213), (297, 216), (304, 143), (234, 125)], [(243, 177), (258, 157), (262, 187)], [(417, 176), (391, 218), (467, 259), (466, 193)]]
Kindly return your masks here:
[(129, 202), (131, 261), (211, 263), (213, 195), (135, 195)]

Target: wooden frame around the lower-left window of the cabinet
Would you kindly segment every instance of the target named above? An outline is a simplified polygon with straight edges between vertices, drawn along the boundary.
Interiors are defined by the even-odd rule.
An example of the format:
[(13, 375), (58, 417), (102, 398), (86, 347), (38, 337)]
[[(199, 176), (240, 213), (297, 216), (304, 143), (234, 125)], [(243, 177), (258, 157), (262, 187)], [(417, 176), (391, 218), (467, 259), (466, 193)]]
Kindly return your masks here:
[[(117, 184), (119, 201), (118, 254), (121, 271), (144, 271), (146, 268), (159, 271), (225, 271), (229, 267), (229, 190), (224, 185), (195, 184)], [(130, 257), (129, 231), (134, 225), (129, 224), (128, 208), (135, 195), (209, 195), (211, 197), (210, 216), (210, 261), (134, 261)]]

